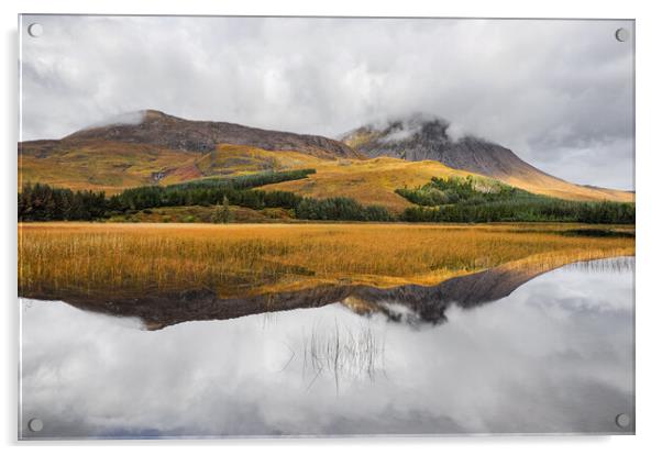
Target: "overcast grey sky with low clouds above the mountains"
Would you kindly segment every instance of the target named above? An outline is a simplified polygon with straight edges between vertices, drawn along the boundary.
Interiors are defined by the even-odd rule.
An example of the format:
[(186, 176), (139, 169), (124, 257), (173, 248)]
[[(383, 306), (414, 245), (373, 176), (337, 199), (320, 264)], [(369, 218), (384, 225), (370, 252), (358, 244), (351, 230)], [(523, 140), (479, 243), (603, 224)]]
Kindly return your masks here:
[[(31, 37), (38, 22), (43, 34)], [(555, 176), (633, 188), (617, 21), (24, 16), (22, 140), (158, 109), (335, 137), (415, 112)]]

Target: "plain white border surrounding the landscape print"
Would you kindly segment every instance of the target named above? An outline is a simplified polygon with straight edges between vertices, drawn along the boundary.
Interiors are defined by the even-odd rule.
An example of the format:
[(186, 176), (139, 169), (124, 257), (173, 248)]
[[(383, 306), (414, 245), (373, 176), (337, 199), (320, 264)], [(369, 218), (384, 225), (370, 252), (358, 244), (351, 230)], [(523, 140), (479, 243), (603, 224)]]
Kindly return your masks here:
[[(244, 0), (242, 2), (213, 0), (4, 0), (2, 3), (3, 90), (4, 107), (0, 111), (4, 153), (2, 200), (5, 208), (2, 223), (2, 238), (7, 253), (3, 255), (4, 273), (2, 289), (7, 298), (4, 311), (4, 343), (2, 391), (3, 403), (0, 414), (0, 429), (5, 445), (29, 445), (36, 450), (42, 445), (55, 445), (49, 451), (67, 453), (95, 450), (117, 451), (117, 446), (135, 447), (141, 452), (155, 450), (179, 452), (183, 446), (218, 451), (223, 448), (253, 450), (269, 447), (269, 452), (291, 454), (293, 451), (309, 453), (336, 453), (339, 450), (361, 451), (378, 448), (386, 453), (416, 448), (422, 452), (439, 453), (440, 450), (477, 453), (482, 450), (508, 454), (558, 453), (560, 451), (582, 451), (583, 453), (619, 454), (629, 451), (652, 452), (660, 446), (658, 434), (659, 407), (662, 378), (659, 366), (659, 346), (662, 345), (658, 325), (662, 321), (662, 310), (654, 288), (657, 253), (660, 252), (660, 230), (662, 215), (657, 198), (662, 165), (660, 158), (660, 71), (659, 43), (662, 42), (662, 18), (655, 14), (652, 1), (585, 1), (555, 0), (527, 2), (525, 0), (455, 0), (454, 2), (426, 2), (423, 0), (379, 0), (358, 2), (356, 0)], [(229, 441), (85, 441), (75, 443), (16, 443), (16, 390), (18, 390), (18, 307), (16, 287), (16, 141), (18, 141), (18, 33), (16, 14), (24, 13), (97, 13), (97, 14), (236, 14), (236, 15), (369, 15), (369, 16), (489, 16), (489, 18), (600, 18), (637, 20), (637, 435), (636, 436), (485, 436), (485, 437), (439, 437), (439, 439), (347, 439), (347, 440), (229, 440)], [(70, 447), (74, 445), (74, 447)], [(108, 446), (111, 445), (111, 446)], [(312, 447), (315, 446), (315, 447)], [(12, 447), (15, 448), (15, 447)]]

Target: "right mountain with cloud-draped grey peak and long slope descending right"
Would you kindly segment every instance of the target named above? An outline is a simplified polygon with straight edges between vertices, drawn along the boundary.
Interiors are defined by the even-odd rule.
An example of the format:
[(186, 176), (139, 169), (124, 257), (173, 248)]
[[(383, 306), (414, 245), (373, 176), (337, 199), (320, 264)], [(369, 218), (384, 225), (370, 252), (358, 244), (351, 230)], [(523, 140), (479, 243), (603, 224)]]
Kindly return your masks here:
[(389, 156), (410, 162), (434, 160), (562, 199), (633, 200), (633, 193), (629, 191), (580, 186), (551, 176), (493, 142), (471, 135), (452, 137), (450, 123), (438, 118), (416, 114), (384, 125), (364, 125), (346, 133), (341, 141), (371, 158)]

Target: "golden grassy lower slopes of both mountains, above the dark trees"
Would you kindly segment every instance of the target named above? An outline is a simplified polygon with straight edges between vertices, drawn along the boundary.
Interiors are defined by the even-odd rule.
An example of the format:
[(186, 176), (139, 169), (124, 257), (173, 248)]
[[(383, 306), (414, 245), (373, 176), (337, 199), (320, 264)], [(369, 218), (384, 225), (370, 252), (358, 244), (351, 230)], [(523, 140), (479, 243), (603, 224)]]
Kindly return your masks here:
[[(52, 148), (54, 147), (54, 148)], [(395, 193), (397, 188), (416, 187), (432, 177), (464, 177), (471, 173), (438, 162), (406, 162), (397, 158), (332, 159), (293, 151), (265, 151), (245, 145), (219, 144), (213, 152), (172, 151), (146, 144), (107, 141), (71, 143), (24, 143), (19, 156), (19, 188), (24, 181), (44, 182), (73, 189), (104, 190), (178, 184), (203, 177), (251, 174), (265, 170), (315, 168), (304, 180), (269, 185), (264, 189), (294, 191), (315, 198), (344, 196), (364, 204), (385, 206), (399, 212), (410, 203)], [(631, 202), (627, 191), (588, 188), (544, 174), (528, 178), (504, 178), (525, 190), (571, 200), (616, 200)]]

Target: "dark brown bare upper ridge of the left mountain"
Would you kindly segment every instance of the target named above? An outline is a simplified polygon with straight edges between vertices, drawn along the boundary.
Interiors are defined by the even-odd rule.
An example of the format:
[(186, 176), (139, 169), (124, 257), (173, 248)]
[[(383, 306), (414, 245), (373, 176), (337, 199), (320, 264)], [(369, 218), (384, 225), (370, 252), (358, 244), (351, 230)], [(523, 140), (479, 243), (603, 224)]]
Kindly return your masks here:
[(174, 151), (212, 152), (218, 144), (258, 147), (266, 151), (293, 151), (319, 157), (361, 158), (345, 144), (328, 137), (261, 130), (225, 122), (179, 119), (161, 111), (146, 110), (135, 123), (115, 123), (90, 127), (64, 137), (64, 141), (102, 140), (150, 144)]

